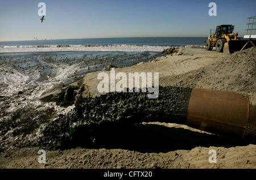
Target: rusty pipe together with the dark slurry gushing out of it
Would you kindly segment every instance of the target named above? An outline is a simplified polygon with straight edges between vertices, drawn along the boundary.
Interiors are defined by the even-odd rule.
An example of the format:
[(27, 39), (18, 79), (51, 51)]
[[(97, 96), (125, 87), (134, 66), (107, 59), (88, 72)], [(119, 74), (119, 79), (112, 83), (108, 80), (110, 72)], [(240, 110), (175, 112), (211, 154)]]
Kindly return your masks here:
[[(86, 98), (67, 115), (49, 123), (41, 147), (91, 147), (100, 136), (129, 132), (142, 122), (188, 125), (213, 134), (255, 141), (256, 111), (249, 98), (236, 92), (181, 87), (159, 87), (159, 97), (147, 93), (114, 92)], [(131, 132), (130, 132), (131, 133)]]

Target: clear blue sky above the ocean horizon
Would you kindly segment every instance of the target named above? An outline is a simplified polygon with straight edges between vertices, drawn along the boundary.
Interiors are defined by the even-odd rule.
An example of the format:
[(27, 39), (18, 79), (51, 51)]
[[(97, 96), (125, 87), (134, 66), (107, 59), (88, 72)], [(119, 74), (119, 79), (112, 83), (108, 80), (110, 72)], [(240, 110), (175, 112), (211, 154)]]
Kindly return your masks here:
[[(43, 23), (38, 3), (46, 3)], [(209, 16), (210, 2), (217, 16)], [(208, 36), (217, 24), (246, 33), (255, 0), (0, 0), (0, 41), (38, 38)]]

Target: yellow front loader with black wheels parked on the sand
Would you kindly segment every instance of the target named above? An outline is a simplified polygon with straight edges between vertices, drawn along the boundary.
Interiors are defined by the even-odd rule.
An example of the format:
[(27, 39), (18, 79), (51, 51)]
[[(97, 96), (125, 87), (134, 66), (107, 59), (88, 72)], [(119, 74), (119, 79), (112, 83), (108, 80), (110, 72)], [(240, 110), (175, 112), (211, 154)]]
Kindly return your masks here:
[(216, 52), (234, 53), (236, 51), (254, 46), (255, 40), (241, 40), (238, 33), (233, 33), (234, 25), (217, 25), (215, 33), (210, 32), (208, 40), (205, 41), (205, 49)]

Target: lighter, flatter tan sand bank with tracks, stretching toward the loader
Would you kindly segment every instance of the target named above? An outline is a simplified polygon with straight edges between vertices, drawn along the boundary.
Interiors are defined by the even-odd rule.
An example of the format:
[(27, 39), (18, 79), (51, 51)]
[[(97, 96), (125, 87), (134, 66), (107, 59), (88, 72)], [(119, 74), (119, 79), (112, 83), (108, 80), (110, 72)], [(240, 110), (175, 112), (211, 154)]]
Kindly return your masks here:
[[(229, 57), (229, 54), (216, 53), (214, 51), (209, 52), (201, 48), (179, 48), (179, 53), (183, 55), (174, 53), (171, 55), (167, 55), (166, 57), (163, 56), (160, 58), (156, 58), (155, 61), (138, 63), (137, 65), (130, 67), (115, 68), (115, 74), (117, 74), (118, 72), (124, 72), (128, 77), (129, 72), (159, 72), (159, 80), (161, 80), (161, 78), (181, 75), (186, 72), (198, 70), (200, 67), (208, 66), (212, 63), (222, 61), (223, 59)], [(110, 77), (110, 71), (104, 72), (108, 73)], [(89, 93), (92, 97), (104, 94), (99, 93), (97, 90), (97, 85), (101, 81), (97, 79), (98, 73), (99, 72), (91, 72), (89, 74), (86, 74), (86, 76), (84, 77), (83, 84), (88, 86), (85, 91), (88, 91), (87, 93)], [(118, 80), (115, 81), (115, 83), (117, 82)], [(168, 85), (162, 83), (161, 81), (159, 83), (159, 85), (161, 86)]]

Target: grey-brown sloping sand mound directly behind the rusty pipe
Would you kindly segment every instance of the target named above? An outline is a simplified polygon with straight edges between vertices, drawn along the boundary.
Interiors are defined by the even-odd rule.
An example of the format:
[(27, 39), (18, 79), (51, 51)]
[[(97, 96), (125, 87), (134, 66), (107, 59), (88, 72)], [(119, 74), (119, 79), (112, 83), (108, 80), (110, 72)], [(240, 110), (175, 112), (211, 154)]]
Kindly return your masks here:
[(212, 65), (160, 78), (161, 85), (256, 92), (256, 48), (236, 52)]

